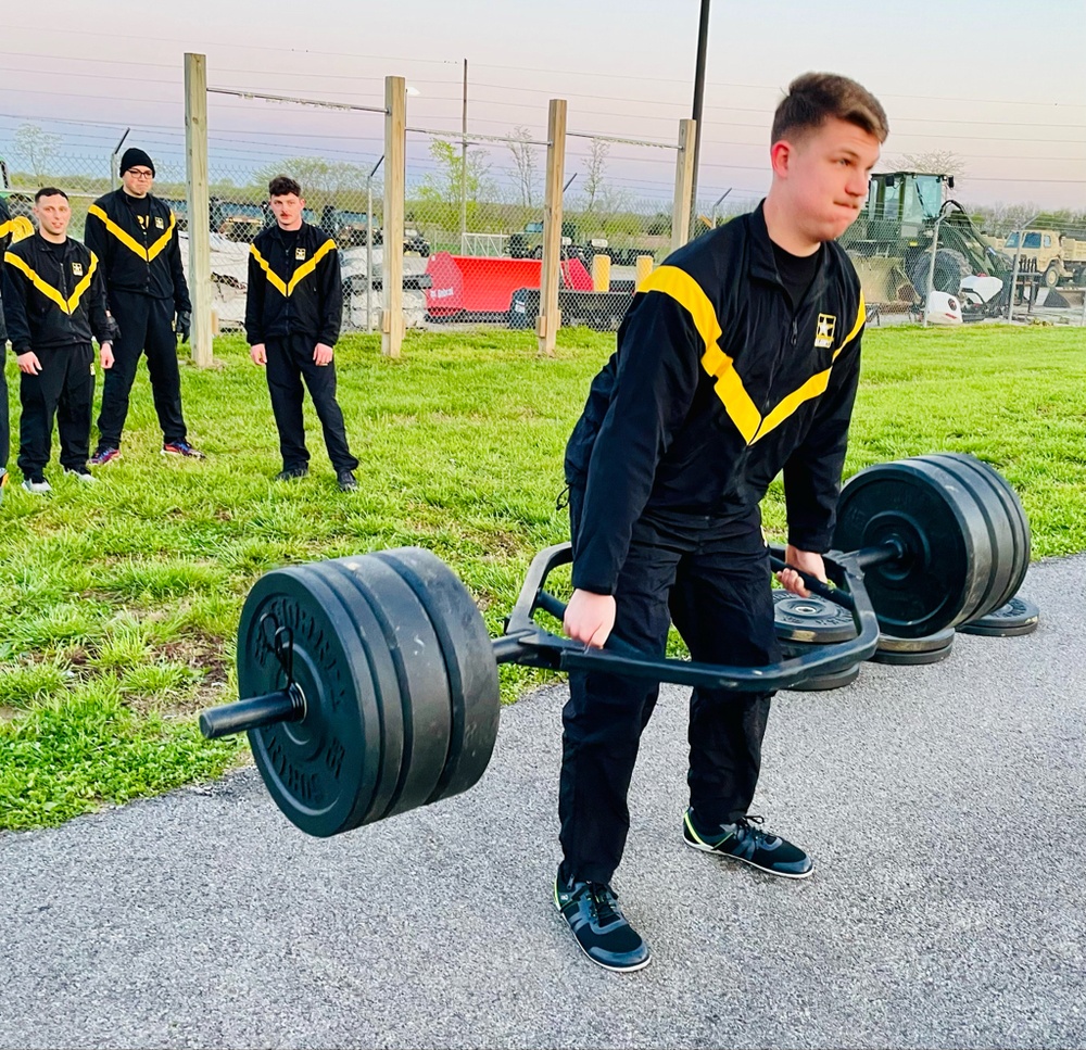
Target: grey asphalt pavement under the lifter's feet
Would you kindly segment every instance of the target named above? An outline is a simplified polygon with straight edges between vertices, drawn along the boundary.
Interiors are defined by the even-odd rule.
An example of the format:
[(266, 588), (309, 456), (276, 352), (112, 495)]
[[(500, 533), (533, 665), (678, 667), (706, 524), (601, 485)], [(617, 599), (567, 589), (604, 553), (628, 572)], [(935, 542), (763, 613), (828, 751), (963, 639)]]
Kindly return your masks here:
[(471, 792), (329, 840), (253, 769), (0, 837), (3, 1047), (1086, 1047), (1086, 558), (1036, 633), (774, 701), (754, 807), (809, 880), (685, 848), (686, 691), (645, 733), (615, 880), (653, 948), (553, 909), (565, 690)]

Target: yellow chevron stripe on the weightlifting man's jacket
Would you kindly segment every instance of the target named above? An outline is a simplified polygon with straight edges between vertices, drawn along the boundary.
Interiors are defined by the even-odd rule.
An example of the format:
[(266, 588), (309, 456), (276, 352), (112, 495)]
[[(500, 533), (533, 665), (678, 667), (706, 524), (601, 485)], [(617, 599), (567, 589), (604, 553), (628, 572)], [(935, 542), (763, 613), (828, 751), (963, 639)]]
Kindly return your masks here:
[[(697, 333), (705, 343), (705, 353), (702, 355), (702, 367), (716, 377), (714, 389), (728, 413), (729, 418), (735, 423), (735, 428), (743, 435), (744, 441), (754, 444), (766, 437), (770, 431), (775, 430), (785, 419), (788, 418), (805, 401), (818, 397), (825, 393), (830, 385), (830, 368), (811, 376), (801, 387), (785, 395), (770, 412), (762, 416), (758, 412), (750, 395), (743, 385), (743, 380), (735, 370), (733, 358), (729, 357), (720, 349), (720, 337), (723, 334), (720, 321), (717, 319), (717, 312), (709, 302), (708, 295), (702, 287), (685, 270), (678, 266), (660, 266), (653, 270), (645, 280), (637, 286), (639, 292), (662, 292), (669, 295), (680, 306), (684, 307), (694, 321)], [(856, 324), (851, 331), (845, 337), (845, 341), (834, 351), (833, 360), (859, 333), (863, 327), (867, 313), (863, 306), (863, 295), (860, 294), (860, 306), (856, 316)]]

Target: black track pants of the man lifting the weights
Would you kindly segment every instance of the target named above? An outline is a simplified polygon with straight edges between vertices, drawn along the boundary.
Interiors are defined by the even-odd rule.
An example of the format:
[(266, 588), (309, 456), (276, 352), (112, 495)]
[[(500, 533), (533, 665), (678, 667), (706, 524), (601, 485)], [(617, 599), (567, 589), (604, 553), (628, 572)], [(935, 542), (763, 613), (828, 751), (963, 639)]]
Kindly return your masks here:
[[(583, 492), (570, 491), (573, 552)], [(718, 522), (645, 514), (616, 589), (615, 635), (662, 656), (673, 621), (694, 660), (755, 667), (780, 659), (769, 551), (757, 515)], [(627, 795), (659, 686), (571, 672), (563, 711), (558, 815), (563, 874), (610, 882), (630, 827)], [(702, 825), (747, 812), (772, 694), (695, 688), (690, 704), (691, 805)], [(679, 815), (675, 814), (678, 833)]]

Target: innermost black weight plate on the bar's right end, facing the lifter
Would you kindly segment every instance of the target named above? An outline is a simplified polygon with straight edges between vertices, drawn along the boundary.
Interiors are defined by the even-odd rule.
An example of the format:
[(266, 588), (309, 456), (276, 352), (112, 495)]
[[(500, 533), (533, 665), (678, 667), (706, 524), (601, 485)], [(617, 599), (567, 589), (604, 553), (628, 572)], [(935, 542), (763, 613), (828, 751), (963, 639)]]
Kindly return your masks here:
[(920, 459), (877, 464), (842, 489), (833, 546), (858, 551), (891, 540), (908, 554), (864, 572), (882, 630), (924, 637), (975, 607), (990, 567), (990, 542), (975, 501), (946, 470)]

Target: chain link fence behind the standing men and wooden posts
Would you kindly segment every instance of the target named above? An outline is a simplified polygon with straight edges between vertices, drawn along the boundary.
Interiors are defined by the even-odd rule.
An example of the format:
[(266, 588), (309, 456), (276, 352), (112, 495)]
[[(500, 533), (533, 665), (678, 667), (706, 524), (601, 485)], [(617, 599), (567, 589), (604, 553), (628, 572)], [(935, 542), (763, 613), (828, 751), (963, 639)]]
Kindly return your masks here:
[[(343, 329), (380, 330), (386, 116), (383, 99), (369, 101), (348, 105), (210, 90), (211, 268), (220, 329), (242, 325), (249, 244), (274, 220), (268, 180), (286, 174), (303, 187), (306, 220), (326, 228), (340, 245)], [(268, 110), (275, 113), (274, 131), (258, 129), (268, 127)], [(504, 136), (414, 128), (408, 117), (399, 246), (407, 328), (534, 327), (545, 139), (545, 132), (525, 126)], [(122, 149), (61, 154), (43, 140), (38, 144), (34, 151), (24, 142), (21, 151), (0, 139), (2, 192), (16, 218), (16, 236), (33, 228), (34, 192), (55, 185), (70, 194), (71, 232), (81, 238), (89, 204), (119, 185)], [(143, 147), (155, 159), (154, 193), (177, 214), (187, 268), (181, 129), (137, 132), (127, 144)], [(675, 157), (677, 147), (666, 142), (567, 132), (563, 324), (616, 328), (639, 275), (670, 252)], [(1038, 213), (1026, 205), (967, 211), (952, 203), (954, 197), (946, 176), (897, 172), (873, 177), (867, 205), (841, 239), (873, 324), (931, 320), (925, 304), (935, 303), (936, 293), (954, 300), (967, 321), (1086, 324), (1086, 212)], [(756, 205), (749, 192), (709, 194), (703, 188), (690, 237)]]

